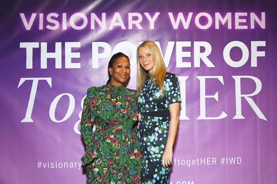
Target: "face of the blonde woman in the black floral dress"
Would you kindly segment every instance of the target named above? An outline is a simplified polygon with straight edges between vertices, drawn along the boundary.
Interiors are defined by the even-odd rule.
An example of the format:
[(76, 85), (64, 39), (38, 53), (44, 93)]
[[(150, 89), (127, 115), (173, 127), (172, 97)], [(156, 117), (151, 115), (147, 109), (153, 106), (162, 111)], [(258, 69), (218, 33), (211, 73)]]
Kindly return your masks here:
[(148, 71), (149, 75), (151, 76), (155, 61), (151, 53), (145, 47), (140, 47), (138, 49), (138, 62), (144, 70)]

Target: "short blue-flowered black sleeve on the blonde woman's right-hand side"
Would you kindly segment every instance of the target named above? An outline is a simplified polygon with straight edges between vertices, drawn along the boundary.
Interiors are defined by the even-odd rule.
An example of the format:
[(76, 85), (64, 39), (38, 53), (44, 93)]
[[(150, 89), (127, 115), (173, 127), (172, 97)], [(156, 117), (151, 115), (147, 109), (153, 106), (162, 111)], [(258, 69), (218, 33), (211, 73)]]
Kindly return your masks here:
[(165, 93), (167, 96), (168, 105), (174, 102), (182, 102), (178, 77), (173, 73), (168, 73), (166, 76)]

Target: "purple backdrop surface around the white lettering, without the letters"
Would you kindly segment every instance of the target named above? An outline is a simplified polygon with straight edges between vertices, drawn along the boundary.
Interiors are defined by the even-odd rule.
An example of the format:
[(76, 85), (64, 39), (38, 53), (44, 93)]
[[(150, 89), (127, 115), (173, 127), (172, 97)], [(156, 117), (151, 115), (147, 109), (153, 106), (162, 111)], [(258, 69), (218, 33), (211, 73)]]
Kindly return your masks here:
[[(100, 59), (99, 68), (91, 68), (91, 42), (107, 42), (111, 49), (122, 41), (129, 41), (138, 46), (144, 40), (159, 41), (165, 54), (168, 41), (191, 41), (192, 57), (183, 61), (192, 62), (191, 68), (176, 68), (176, 44), (168, 66), (168, 71), (177, 76), (189, 76), (186, 80), (186, 115), (190, 120), (180, 120), (178, 136), (175, 143), (174, 158), (180, 160), (215, 157), (216, 165), (182, 166), (174, 165), (170, 181), (194, 181), (194, 184), (212, 183), (276, 183), (276, 5), (275, 1), (9, 1), (1, 3), (1, 170), (0, 183), (85, 183), (84, 169), (78, 168), (37, 168), (37, 162), (80, 162), (84, 152), (81, 136), (73, 131), (80, 120), (81, 100), (90, 86), (102, 86), (107, 76), (106, 59)], [(106, 13), (107, 28), (115, 12), (119, 12), (126, 30), (115, 28), (102, 30), (90, 24), (83, 30), (67, 28), (48, 30), (46, 18), (44, 29), (38, 29), (38, 17), (31, 30), (25, 30), (19, 13), (31, 16), (31, 13), (73, 13), (87, 11)], [(149, 29), (149, 22), (144, 12), (160, 12), (154, 29)], [(193, 12), (188, 29), (179, 25), (172, 28), (168, 12), (177, 15)], [(207, 12), (214, 18), (214, 13), (225, 15), (235, 12), (266, 13), (266, 28), (257, 24), (255, 29), (236, 30), (234, 21), (232, 29), (226, 25), (215, 29), (214, 21), (210, 28), (201, 30), (195, 26), (194, 17), (200, 12)], [(142, 30), (136, 26), (128, 29), (128, 13), (141, 13)], [(37, 15), (38, 16), (38, 15)], [(175, 17), (175, 16), (174, 16)], [(247, 16), (248, 18), (250, 16)], [(68, 18), (69, 19), (69, 18)], [(214, 19), (213, 19), (214, 20)], [(61, 22), (61, 21), (59, 21)], [(250, 27), (248, 19), (243, 25)], [(61, 25), (60, 25), (61, 26)], [(201, 61), (200, 68), (193, 67), (193, 42), (205, 41), (211, 44), (212, 53), (208, 57), (216, 66), (208, 68)], [(223, 49), (231, 41), (241, 41), (250, 49), (251, 41), (266, 41), (265, 57), (258, 57), (257, 67), (250, 67), (250, 59), (239, 68), (228, 66), (223, 59)], [(33, 69), (26, 69), (26, 49), (19, 48), (20, 42), (47, 42), (48, 52), (54, 52), (55, 42), (62, 42), (62, 69), (55, 69), (54, 59), (48, 59), (47, 69), (40, 69), (40, 48), (33, 50)], [(64, 42), (81, 42), (80, 58), (73, 62), (81, 63), (81, 69), (65, 69)], [(131, 57), (128, 49), (122, 50)], [(250, 51), (251, 53), (251, 51)], [(240, 59), (241, 51), (231, 52), (233, 59)], [(196, 76), (223, 76), (224, 85), (217, 79), (206, 80), (206, 95), (218, 91), (219, 101), (206, 100), (206, 116), (218, 116), (224, 111), (228, 116), (220, 120), (197, 120), (200, 115), (200, 86)], [(262, 90), (252, 97), (267, 118), (259, 119), (246, 100), (242, 99), (242, 115), (245, 119), (232, 119), (236, 114), (235, 81), (231, 76), (250, 75), (262, 82)], [(31, 81), (25, 81), (17, 88), (20, 78), (51, 77), (52, 87), (47, 82), (39, 81), (31, 118), (34, 122), (21, 123), (25, 117), (31, 91)], [(182, 84), (181, 84), (182, 85)], [(131, 68), (129, 88), (136, 88), (136, 66)], [(242, 80), (242, 93), (249, 94), (255, 89), (254, 81)], [(49, 117), (49, 107), (59, 94), (70, 93), (75, 98), (72, 115), (64, 122), (55, 123)], [(62, 98), (56, 108), (55, 117), (60, 120), (68, 108), (68, 98)], [(241, 164), (221, 165), (222, 157), (240, 157)]]

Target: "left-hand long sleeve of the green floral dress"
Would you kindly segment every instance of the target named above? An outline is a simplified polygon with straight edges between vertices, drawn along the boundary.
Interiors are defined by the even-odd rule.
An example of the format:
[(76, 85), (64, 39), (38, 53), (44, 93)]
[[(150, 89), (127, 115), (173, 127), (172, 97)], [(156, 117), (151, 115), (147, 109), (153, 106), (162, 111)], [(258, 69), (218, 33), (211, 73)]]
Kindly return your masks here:
[(83, 112), (81, 116), (81, 135), (84, 139), (86, 149), (92, 143), (91, 134), (93, 121), (95, 118), (95, 104), (96, 104), (96, 95), (95, 95), (96, 87), (91, 87), (87, 90), (87, 96), (84, 100)]

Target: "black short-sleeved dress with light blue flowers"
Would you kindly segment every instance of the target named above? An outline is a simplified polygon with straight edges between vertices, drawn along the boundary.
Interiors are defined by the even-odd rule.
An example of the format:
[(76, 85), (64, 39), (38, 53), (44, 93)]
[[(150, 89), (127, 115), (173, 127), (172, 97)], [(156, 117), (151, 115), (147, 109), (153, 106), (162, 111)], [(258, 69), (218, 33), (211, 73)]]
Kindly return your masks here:
[[(148, 75), (138, 96), (138, 106), (142, 113), (138, 127), (138, 138), (143, 149), (142, 183), (169, 182), (170, 167), (162, 167), (162, 154), (168, 137), (169, 104), (181, 102), (181, 97), (176, 75), (166, 73), (164, 86), (164, 93), (160, 93)], [(155, 114), (155, 111), (162, 116), (149, 115)]]

